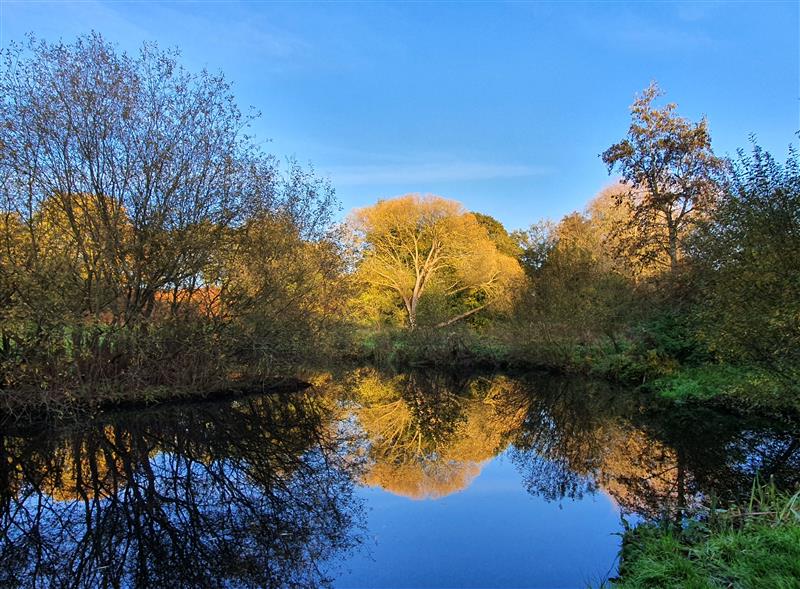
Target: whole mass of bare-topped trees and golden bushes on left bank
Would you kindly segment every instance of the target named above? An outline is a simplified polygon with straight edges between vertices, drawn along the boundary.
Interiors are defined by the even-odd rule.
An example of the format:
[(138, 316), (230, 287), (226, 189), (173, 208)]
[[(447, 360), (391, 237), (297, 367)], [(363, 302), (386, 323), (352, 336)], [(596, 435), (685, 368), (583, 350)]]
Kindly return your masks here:
[(202, 391), (307, 353), (341, 300), (333, 189), (250, 119), (154, 45), (3, 51), (4, 388)]

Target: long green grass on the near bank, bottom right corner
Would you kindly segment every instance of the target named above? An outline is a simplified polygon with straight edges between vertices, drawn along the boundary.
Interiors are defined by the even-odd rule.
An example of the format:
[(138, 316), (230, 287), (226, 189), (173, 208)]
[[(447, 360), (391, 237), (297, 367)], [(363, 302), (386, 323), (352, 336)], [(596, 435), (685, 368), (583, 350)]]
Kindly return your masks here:
[(800, 588), (800, 492), (753, 485), (750, 500), (675, 528), (642, 524), (623, 538), (617, 589)]

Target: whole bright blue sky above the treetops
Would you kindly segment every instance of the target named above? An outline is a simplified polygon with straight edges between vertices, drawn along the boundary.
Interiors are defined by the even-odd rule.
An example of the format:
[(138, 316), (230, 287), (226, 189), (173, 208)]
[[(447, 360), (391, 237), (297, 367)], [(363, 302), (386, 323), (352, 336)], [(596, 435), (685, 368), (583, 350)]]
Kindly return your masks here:
[(267, 149), (329, 175), (344, 212), (435, 193), (509, 229), (609, 182), (598, 154), (658, 80), (719, 154), (781, 158), (800, 129), (800, 2), (0, 0), (0, 45), (96, 30), (177, 46), (262, 112)]

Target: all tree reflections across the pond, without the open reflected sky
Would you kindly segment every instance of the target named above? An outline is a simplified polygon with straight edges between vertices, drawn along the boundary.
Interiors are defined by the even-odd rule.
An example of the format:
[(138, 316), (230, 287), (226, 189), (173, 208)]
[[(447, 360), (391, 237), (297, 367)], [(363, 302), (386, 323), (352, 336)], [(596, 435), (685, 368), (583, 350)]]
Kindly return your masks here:
[[(651, 403), (652, 404), (652, 403)], [(800, 477), (791, 428), (552, 376), (360, 369), (304, 394), (0, 434), (0, 586), (317, 587), (361, 537), (354, 481), (410, 498), (511, 457), (531, 494), (680, 518), (755, 473)]]

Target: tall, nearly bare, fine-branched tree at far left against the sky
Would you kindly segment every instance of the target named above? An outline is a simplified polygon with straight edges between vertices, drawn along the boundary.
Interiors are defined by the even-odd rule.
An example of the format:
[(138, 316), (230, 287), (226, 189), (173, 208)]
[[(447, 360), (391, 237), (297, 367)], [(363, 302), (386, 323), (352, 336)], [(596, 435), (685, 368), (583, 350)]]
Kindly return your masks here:
[(2, 196), (33, 246), (20, 262), (38, 273), (37, 242), (57, 233), (80, 311), (115, 323), (191, 282), (272, 167), (243, 136), (229, 84), (175, 58), (120, 54), (96, 34), (3, 54)]

